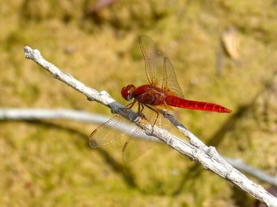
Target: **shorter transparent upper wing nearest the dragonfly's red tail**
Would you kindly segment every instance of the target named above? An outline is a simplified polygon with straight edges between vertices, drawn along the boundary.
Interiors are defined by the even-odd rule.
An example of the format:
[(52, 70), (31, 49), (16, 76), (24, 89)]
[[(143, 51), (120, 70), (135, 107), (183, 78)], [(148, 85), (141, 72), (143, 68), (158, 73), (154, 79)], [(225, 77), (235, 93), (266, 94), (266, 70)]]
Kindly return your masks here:
[(164, 90), (169, 89), (177, 97), (184, 98), (183, 92), (178, 84), (177, 77), (175, 74), (172, 62), (167, 57), (164, 58), (164, 75), (163, 75), (163, 86)]

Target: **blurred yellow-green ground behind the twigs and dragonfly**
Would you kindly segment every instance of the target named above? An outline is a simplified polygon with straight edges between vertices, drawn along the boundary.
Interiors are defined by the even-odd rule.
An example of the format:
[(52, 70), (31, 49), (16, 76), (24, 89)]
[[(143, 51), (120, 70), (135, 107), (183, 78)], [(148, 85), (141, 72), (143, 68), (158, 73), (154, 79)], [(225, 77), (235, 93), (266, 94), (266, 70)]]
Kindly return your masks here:
[[(123, 86), (147, 83), (138, 38), (172, 61), (187, 99), (231, 114), (177, 109), (220, 154), (276, 176), (277, 1), (0, 1), (1, 108), (110, 110), (24, 58), (24, 46), (125, 104)], [(123, 141), (92, 149), (98, 125), (0, 122), (0, 206), (251, 206), (253, 197), (158, 145), (123, 164)], [(186, 139), (186, 138), (184, 138)], [(250, 179), (265, 188), (251, 175)]]

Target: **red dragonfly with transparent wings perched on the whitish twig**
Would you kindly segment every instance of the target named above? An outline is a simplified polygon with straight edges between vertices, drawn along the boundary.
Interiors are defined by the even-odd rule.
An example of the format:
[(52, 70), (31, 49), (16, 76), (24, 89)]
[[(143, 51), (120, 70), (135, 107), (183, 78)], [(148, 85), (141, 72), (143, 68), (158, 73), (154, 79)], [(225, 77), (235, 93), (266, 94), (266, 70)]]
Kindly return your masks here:
[[(146, 77), (149, 83), (137, 88), (129, 84), (122, 88), (121, 95), (127, 101), (133, 100), (126, 108), (137, 112), (136, 118), (139, 118), (141, 124), (156, 125), (169, 130), (172, 124), (163, 115), (160, 115), (159, 111), (170, 112), (172, 111), (171, 106), (211, 112), (232, 112), (215, 103), (184, 99), (171, 61), (162, 55), (150, 37), (141, 35), (139, 45), (143, 52)], [(118, 130), (118, 128), (129, 126), (127, 123), (120, 115), (109, 119), (91, 133), (89, 145), (92, 148), (104, 146), (127, 135), (129, 138), (123, 146), (122, 157), (124, 162), (129, 162), (141, 156), (157, 143), (153, 137), (150, 139), (138, 138), (145, 137), (145, 132), (134, 124), (133, 127), (127, 128), (127, 132)]]

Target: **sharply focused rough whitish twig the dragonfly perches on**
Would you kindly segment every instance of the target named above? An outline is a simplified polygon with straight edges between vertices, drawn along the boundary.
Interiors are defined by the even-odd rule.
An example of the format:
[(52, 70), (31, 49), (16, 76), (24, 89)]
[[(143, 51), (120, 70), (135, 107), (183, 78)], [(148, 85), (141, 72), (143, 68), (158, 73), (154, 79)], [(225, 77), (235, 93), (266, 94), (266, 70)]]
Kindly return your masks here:
[[(84, 83), (81, 83), (77, 79), (73, 78), (71, 75), (62, 72), (59, 68), (55, 67), (52, 63), (44, 60), (42, 55), (38, 50), (33, 50), (30, 47), (26, 46), (25, 57), (27, 59), (33, 59), (39, 66), (46, 69), (48, 72), (51, 72), (53, 77), (63, 81), (68, 86), (71, 86), (75, 90), (82, 92), (87, 96), (87, 99), (90, 101), (98, 101), (103, 105), (111, 108), (111, 112), (118, 113), (132, 121), (132, 119), (136, 116), (136, 113), (132, 110), (123, 110), (124, 106), (120, 103), (114, 101), (111, 96), (107, 92), (98, 92), (88, 86), (85, 86)], [(241, 172), (233, 168), (230, 164), (228, 164), (220, 155), (218, 155), (217, 151), (214, 147), (208, 147), (202, 143), (193, 133), (188, 131), (184, 126), (179, 124), (179, 122), (174, 119), (172, 116), (168, 116), (172, 124), (175, 124), (177, 128), (183, 132), (188, 139), (190, 139), (190, 144), (186, 144), (181, 139), (178, 139), (174, 135), (170, 134), (167, 130), (154, 126), (141, 126), (138, 120), (133, 121), (134, 124), (143, 128), (147, 135), (152, 135), (161, 139), (164, 143), (168, 144), (168, 146), (175, 148), (182, 155), (186, 155), (190, 159), (193, 159), (199, 164), (207, 169), (211, 170), (217, 175), (224, 177), (229, 180), (232, 184), (235, 184), (245, 192), (249, 193), (256, 199), (267, 204), (267, 206), (277, 206), (276, 197), (270, 195), (262, 186), (258, 186), (253, 181), (249, 180), (247, 177), (242, 175)]]

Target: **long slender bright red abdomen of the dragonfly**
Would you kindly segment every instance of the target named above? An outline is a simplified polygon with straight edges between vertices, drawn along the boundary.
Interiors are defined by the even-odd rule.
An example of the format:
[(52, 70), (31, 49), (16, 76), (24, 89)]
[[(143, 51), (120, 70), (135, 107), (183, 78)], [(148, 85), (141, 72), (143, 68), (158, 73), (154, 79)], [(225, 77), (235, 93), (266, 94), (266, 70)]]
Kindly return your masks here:
[(211, 112), (222, 112), (222, 113), (231, 113), (232, 110), (220, 106), (215, 103), (208, 103), (203, 101), (191, 101), (187, 99), (181, 99), (172, 95), (166, 97), (166, 103), (170, 106), (175, 106), (179, 108), (188, 108), (193, 110), (206, 110)]

